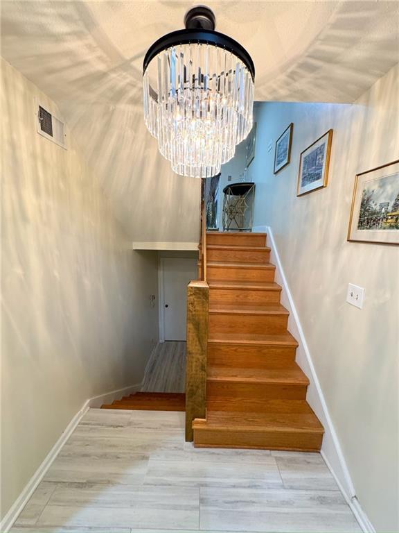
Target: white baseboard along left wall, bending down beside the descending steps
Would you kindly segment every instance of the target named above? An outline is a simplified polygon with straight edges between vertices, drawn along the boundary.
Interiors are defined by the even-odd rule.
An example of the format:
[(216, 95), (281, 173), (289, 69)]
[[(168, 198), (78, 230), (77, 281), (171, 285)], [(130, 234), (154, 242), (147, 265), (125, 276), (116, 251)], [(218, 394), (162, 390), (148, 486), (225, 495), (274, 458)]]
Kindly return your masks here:
[(85, 401), (81, 409), (76, 413), (75, 416), (73, 416), (71, 422), (69, 422), (67, 425), (67, 428), (65, 428), (65, 430), (62, 432), (60, 438), (54, 444), (53, 448), (51, 448), (51, 450), (48, 452), (42, 464), (39, 466), (39, 468), (37, 468), (37, 471), (30, 478), (17, 500), (15, 500), (13, 505), (10, 507), (6, 516), (3, 517), (3, 520), (0, 523), (1, 533), (7, 533), (10, 530), (12, 524), (17, 520), (17, 517), (21, 513), (22, 509), (24, 509), (37, 485), (42, 481), (44, 475), (46, 475), (48, 468), (50, 468), (62, 446), (64, 446), (64, 443), (66, 443), (69, 437), (71, 437), (73, 430), (75, 430), (81, 418), (87, 413), (87, 411), (93, 407), (101, 407), (103, 403), (113, 402), (117, 398), (121, 398), (121, 396), (132, 394), (132, 392), (139, 391), (140, 389), (141, 383), (138, 383), (136, 385), (132, 385), (131, 387), (124, 387), (123, 389), (117, 389), (116, 391), (94, 396), (93, 398), (89, 398)]

